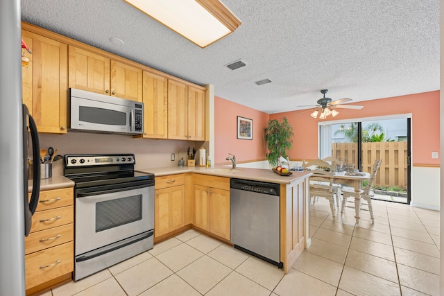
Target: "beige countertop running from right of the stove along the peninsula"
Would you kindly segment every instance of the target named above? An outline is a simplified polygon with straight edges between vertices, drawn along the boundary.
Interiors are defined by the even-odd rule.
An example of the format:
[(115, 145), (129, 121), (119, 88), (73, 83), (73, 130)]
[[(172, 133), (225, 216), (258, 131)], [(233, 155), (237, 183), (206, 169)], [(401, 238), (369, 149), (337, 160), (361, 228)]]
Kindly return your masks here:
[(211, 168), (206, 168), (205, 166), (176, 166), (168, 168), (142, 168), (137, 169), (136, 171), (142, 173), (154, 173), (155, 177), (180, 173), (199, 173), (205, 175), (216, 175), (220, 177), (232, 177), (244, 180), (255, 180), (277, 184), (290, 184), (291, 182), (303, 179), (311, 175), (311, 173), (307, 172), (292, 171), (292, 175), (280, 176), (274, 173), (271, 169), (267, 170), (262, 168), (235, 168), (234, 170), (232, 170), (228, 166), (213, 166)]

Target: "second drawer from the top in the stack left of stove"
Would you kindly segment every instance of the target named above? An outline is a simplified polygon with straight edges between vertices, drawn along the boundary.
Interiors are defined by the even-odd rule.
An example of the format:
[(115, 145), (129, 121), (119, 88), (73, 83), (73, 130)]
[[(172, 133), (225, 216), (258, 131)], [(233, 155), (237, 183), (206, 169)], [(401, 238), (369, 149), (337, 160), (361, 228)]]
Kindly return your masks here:
[(33, 216), (31, 232), (39, 232), (40, 230), (73, 223), (73, 217), (73, 206), (49, 209), (46, 211), (36, 211)]

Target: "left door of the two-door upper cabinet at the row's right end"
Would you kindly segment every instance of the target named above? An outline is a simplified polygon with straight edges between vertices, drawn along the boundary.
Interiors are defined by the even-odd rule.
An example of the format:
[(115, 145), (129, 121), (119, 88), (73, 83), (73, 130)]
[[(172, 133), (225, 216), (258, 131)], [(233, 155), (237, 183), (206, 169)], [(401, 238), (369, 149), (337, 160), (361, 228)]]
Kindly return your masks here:
[(188, 139), (187, 85), (168, 80), (168, 139)]

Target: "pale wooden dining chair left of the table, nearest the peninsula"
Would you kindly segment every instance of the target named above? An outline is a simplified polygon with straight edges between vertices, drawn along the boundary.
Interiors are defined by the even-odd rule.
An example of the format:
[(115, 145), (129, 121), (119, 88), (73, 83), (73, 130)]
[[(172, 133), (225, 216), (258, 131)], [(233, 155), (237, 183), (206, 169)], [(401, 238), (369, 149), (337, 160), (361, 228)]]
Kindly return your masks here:
[[(309, 189), (310, 189), (310, 198), (325, 198), (330, 202), (330, 210), (332, 211), (332, 216), (334, 218), (334, 195), (335, 192), (333, 190), (333, 177), (334, 177), (334, 168), (335, 162), (333, 161), (331, 164), (323, 161), (322, 159), (314, 159), (310, 162), (302, 162), (302, 168), (304, 171), (308, 171), (310, 169), (311, 175), (309, 177)], [(314, 203), (314, 200), (313, 200)]]

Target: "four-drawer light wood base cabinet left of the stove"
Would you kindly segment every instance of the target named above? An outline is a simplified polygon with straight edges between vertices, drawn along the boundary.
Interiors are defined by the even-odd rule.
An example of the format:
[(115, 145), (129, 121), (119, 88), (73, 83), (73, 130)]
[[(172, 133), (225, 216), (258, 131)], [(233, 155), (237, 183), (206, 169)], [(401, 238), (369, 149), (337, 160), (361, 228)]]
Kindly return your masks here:
[[(74, 191), (41, 191), (25, 238), (26, 294), (71, 278), (74, 270)], [(50, 284), (48, 284), (50, 283)]]

